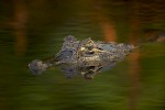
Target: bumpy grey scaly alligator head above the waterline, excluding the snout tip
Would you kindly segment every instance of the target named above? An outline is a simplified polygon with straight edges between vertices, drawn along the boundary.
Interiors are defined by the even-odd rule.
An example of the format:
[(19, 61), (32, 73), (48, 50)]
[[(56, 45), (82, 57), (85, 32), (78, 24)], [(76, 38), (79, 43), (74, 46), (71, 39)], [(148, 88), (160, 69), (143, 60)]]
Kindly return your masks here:
[(123, 43), (95, 42), (91, 38), (77, 41), (74, 36), (66, 36), (62, 51), (56, 55), (57, 64), (82, 64), (120, 62), (134, 48)]

